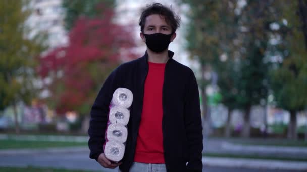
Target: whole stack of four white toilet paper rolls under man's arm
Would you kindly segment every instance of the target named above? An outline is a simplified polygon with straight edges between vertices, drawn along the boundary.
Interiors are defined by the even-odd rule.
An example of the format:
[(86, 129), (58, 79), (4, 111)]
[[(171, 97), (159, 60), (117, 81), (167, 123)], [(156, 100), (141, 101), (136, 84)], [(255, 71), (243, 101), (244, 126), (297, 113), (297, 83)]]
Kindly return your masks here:
[(106, 130), (104, 153), (109, 160), (118, 162), (123, 159), (127, 127), (129, 122), (129, 108), (133, 101), (133, 94), (129, 89), (118, 88), (113, 93), (109, 106), (109, 120)]

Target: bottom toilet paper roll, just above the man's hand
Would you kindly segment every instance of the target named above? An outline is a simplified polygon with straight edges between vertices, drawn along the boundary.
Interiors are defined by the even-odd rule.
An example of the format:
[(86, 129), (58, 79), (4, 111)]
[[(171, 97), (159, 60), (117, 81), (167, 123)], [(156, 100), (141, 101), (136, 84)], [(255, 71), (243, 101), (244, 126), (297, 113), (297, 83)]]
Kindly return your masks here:
[(115, 141), (108, 141), (105, 145), (104, 153), (109, 160), (118, 162), (124, 157), (125, 145)]

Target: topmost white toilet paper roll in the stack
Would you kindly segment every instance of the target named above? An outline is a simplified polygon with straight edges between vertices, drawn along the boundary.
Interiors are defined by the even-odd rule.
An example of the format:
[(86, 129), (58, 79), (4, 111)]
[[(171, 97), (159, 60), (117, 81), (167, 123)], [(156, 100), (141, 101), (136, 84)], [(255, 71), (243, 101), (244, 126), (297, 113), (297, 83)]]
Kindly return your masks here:
[(133, 101), (133, 94), (129, 89), (118, 88), (114, 91), (112, 103), (116, 106), (129, 108)]

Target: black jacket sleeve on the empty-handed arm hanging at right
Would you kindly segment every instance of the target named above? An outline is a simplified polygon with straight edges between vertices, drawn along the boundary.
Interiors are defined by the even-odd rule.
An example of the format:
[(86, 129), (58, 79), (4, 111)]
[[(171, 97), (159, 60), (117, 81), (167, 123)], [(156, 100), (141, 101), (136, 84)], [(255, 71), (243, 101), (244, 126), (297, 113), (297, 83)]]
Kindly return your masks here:
[(185, 129), (188, 141), (187, 171), (202, 171), (202, 125), (198, 85), (191, 70), (185, 95)]

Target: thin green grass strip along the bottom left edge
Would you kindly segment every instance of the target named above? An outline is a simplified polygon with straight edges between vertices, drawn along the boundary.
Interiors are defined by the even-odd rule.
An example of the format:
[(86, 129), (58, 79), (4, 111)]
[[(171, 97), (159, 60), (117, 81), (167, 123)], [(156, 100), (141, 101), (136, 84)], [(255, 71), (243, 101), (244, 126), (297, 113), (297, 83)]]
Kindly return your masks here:
[[(20, 171), (31, 171), (31, 172), (87, 172), (83, 170), (67, 170), (67, 169), (53, 169), (53, 168), (37, 168), (37, 167), (0, 167), (2, 172), (20, 172)], [(88, 171), (89, 172), (89, 171)]]

